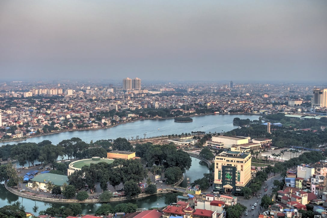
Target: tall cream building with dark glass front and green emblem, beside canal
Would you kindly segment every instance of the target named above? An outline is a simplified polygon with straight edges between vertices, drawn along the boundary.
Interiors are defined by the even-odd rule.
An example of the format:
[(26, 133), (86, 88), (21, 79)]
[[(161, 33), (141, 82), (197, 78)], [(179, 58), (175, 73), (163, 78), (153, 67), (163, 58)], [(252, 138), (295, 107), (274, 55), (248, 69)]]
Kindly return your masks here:
[(232, 146), (231, 151), (215, 157), (215, 193), (240, 193), (250, 185), (251, 155), (244, 153), (240, 146)]

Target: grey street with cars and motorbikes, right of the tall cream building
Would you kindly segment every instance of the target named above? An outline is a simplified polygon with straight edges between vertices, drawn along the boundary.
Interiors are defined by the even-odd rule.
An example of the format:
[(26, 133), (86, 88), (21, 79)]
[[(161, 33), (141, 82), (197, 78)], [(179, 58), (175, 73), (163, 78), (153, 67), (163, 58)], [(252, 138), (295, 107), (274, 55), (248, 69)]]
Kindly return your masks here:
[[(276, 175), (276, 176), (272, 176), (270, 178), (268, 178), (268, 180), (264, 183), (264, 185), (261, 187), (261, 189), (258, 191), (258, 193), (261, 192), (261, 197), (264, 196), (265, 193), (267, 193), (267, 195), (269, 196), (269, 192), (271, 192), (272, 190), (270, 189), (270, 187), (273, 187), (273, 181), (274, 180), (281, 180), (282, 176), (281, 175)], [(267, 185), (267, 192), (265, 192), (264, 187), (265, 184)], [(252, 217), (258, 217), (260, 213), (264, 212), (265, 210), (261, 209), (260, 204), (261, 204), (261, 197), (255, 197), (253, 196), (251, 199), (244, 199), (243, 196), (239, 196), (237, 199), (237, 203), (243, 204), (244, 206), (247, 207), (246, 212), (248, 212), (248, 216)], [(257, 203), (257, 206), (254, 207), (254, 210), (251, 210), (252, 205), (254, 205), (255, 203)], [(245, 216), (245, 212), (242, 214), (242, 217)]]

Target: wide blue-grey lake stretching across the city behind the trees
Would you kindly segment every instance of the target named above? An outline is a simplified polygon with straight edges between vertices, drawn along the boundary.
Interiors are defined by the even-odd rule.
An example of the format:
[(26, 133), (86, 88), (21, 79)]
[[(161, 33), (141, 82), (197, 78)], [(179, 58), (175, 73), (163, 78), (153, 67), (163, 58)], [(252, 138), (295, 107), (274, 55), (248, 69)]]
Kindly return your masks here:
[(206, 115), (192, 117), (193, 122), (190, 123), (176, 123), (173, 119), (140, 120), (107, 129), (60, 132), (56, 134), (29, 138), (22, 141), (4, 142), (0, 143), (0, 146), (4, 144), (16, 144), (19, 142), (39, 143), (43, 140), (49, 140), (52, 142), (52, 144), (58, 144), (62, 140), (73, 137), (80, 138), (84, 142), (89, 143), (91, 140), (93, 140), (93, 142), (101, 139), (114, 140), (119, 137), (130, 140), (131, 137), (135, 139), (136, 136), (139, 136), (139, 138), (144, 138), (144, 134), (146, 134), (145, 137), (147, 138), (171, 134), (179, 135), (181, 133), (191, 133), (192, 131), (220, 133), (227, 132), (238, 127), (233, 125), (233, 119), (235, 117), (239, 117), (240, 119), (249, 118), (250, 120), (257, 120), (259, 118), (259, 116), (256, 115)]

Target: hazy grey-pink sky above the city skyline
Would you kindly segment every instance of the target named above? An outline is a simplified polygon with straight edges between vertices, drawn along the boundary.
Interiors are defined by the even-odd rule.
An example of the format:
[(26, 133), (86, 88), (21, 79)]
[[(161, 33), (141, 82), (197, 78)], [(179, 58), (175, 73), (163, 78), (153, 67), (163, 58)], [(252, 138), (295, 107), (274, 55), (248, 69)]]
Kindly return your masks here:
[(1, 0), (0, 76), (327, 81), (327, 1)]

